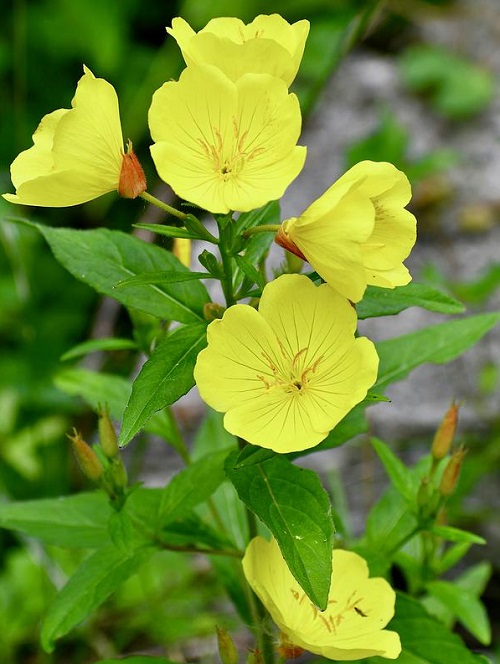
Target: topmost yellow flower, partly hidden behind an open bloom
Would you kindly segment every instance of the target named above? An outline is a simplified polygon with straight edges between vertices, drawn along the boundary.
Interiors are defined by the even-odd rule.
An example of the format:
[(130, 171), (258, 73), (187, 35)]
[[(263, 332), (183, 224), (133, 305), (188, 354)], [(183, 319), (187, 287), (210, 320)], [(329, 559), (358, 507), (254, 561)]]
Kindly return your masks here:
[(290, 25), (279, 14), (257, 16), (248, 25), (239, 18), (213, 18), (196, 33), (183, 18), (174, 18), (167, 32), (188, 66), (214, 65), (233, 81), (246, 73), (271, 74), (289, 86), (300, 66), (309, 21)]

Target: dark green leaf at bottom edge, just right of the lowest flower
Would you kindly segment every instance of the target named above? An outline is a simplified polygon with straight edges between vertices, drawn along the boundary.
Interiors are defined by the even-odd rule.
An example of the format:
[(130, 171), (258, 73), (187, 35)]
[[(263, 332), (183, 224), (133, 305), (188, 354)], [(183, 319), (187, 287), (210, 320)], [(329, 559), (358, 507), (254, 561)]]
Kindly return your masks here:
[[(396, 615), (387, 626), (401, 638), (398, 664), (486, 664), (482, 655), (472, 653), (456, 635), (433, 618), (415, 599), (396, 594)], [(384, 657), (356, 660), (354, 664), (387, 664)]]

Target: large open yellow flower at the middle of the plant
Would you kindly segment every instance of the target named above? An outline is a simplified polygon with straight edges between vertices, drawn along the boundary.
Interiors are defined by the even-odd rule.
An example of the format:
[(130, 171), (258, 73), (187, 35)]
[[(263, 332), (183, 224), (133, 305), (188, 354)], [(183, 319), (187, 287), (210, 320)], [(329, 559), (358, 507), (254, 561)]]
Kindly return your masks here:
[(377, 377), (371, 341), (354, 338), (356, 313), (304, 275), (267, 284), (259, 310), (227, 309), (208, 327), (194, 376), (224, 426), (276, 452), (305, 450), (365, 396)]

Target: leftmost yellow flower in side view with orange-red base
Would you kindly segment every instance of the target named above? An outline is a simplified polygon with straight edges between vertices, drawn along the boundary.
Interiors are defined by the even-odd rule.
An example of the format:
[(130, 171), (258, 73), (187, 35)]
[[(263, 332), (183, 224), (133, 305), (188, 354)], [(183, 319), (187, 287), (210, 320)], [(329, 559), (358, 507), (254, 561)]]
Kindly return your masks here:
[(124, 154), (118, 98), (112, 85), (84, 67), (71, 109), (46, 115), (34, 145), (11, 166), (11, 203), (67, 207), (110, 191), (135, 198), (146, 189), (137, 157)]

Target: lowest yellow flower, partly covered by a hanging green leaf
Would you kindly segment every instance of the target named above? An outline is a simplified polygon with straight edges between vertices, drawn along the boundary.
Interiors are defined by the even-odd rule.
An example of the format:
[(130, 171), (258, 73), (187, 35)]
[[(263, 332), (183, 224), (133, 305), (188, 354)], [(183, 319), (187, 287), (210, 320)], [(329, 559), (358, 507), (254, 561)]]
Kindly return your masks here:
[(243, 570), (281, 630), (285, 649), (295, 646), (337, 661), (399, 656), (399, 635), (383, 629), (394, 615), (394, 590), (385, 579), (370, 579), (366, 561), (358, 554), (333, 551), (325, 611), (305, 595), (276, 540), (255, 537), (247, 547)]

